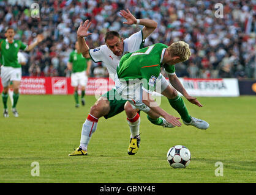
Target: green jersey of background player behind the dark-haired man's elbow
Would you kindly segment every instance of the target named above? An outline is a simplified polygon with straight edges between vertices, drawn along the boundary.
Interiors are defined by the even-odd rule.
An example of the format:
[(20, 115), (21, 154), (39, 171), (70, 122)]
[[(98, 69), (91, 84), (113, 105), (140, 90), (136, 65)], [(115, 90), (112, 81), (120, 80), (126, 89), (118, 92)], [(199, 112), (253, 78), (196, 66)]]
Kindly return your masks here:
[(72, 73), (83, 72), (87, 69), (87, 62), (89, 59), (85, 59), (83, 54), (78, 54), (77, 50), (74, 50), (69, 55), (69, 62), (72, 63)]

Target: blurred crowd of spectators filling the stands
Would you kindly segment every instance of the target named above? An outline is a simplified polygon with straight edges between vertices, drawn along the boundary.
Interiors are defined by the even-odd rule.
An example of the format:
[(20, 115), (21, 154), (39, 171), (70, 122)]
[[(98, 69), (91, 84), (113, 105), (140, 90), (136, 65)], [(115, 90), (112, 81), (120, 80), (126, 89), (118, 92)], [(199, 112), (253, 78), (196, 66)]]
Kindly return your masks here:
[[(89, 19), (92, 33), (86, 38), (89, 48), (105, 44), (104, 35), (116, 30), (127, 38), (143, 26), (128, 26), (119, 10), (129, 9), (135, 18), (157, 21), (157, 29), (146, 38), (145, 46), (170, 45), (183, 40), (192, 55), (176, 65), (178, 77), (256, 78), (255, 0), (46, 0), (40, 5), (40, 18), (32, 18), (32, 1), (0, 0), (0, 38), (7, 26), (15, 29), (15, 39), (32, 43), (37, 34), (45, 40), (25, 53), (23, 76), (70, 76), (67, 61), (77, 41), (80, 21)], [(221, 3), (223, 17), (214, 15)], [(164, 74), (164, 72), (163, 72)], [(107, 77), (102, 63), (92, 62), (91, 77)]]

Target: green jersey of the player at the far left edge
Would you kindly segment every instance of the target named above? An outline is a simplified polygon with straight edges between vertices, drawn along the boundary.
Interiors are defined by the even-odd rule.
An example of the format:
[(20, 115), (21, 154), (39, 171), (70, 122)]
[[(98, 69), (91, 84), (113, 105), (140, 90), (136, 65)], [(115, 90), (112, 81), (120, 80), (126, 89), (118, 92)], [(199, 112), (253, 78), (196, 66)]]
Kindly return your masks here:
[(26, 49), (27, 45), (22, 43), (20, 40), (13, 40), (12, 43), (9, 43), (7, 39), (0, 40), (0, 45), (2, 65), (20, 68), (21, 65), (18, 63), (18, 51), (20, 51), (20, 49)]

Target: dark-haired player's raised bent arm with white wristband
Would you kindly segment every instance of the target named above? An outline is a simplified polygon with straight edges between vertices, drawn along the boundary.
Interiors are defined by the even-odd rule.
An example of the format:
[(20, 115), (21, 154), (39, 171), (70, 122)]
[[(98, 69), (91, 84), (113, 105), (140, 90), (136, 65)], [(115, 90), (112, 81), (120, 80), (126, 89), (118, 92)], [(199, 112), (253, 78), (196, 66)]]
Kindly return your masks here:
[[(137, 19), (130, 13), (129, 9), (126, 10), (120, 10), (120, 15), (127, 19), (127, 22), (124, 22), (124, 24), (140, 24), (145, 27), (143, 27), (143, 39), (148, 37), (156, 28), (157, 28), (157, 22), (152, 19)], [(139, 21), (139, 23), (138, 23)]]

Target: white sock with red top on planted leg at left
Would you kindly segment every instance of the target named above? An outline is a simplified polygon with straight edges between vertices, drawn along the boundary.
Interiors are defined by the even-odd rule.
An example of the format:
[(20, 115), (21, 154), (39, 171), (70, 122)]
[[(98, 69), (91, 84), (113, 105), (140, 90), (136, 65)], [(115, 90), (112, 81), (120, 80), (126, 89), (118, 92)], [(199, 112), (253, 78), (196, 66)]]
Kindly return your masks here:
[(82, 131), (81, 131), (81, 140), (80, 140), (80, 147), (87, 151), (87, 147), (89, 141), (91, 140), (92, 133), (94, 133), (97, 129), (98, 118), (88, 115), (85, 123), (83, 124)]

